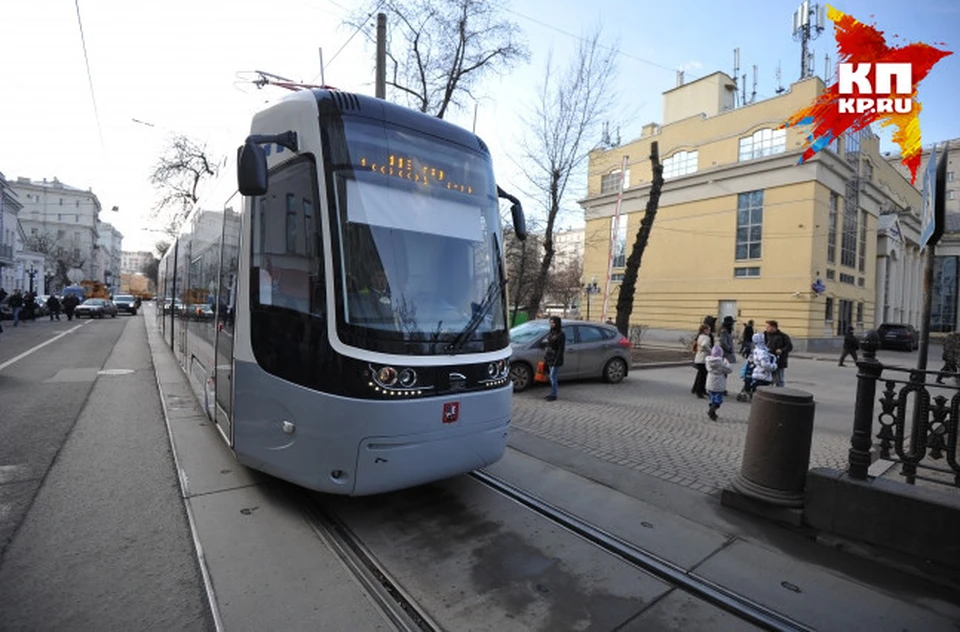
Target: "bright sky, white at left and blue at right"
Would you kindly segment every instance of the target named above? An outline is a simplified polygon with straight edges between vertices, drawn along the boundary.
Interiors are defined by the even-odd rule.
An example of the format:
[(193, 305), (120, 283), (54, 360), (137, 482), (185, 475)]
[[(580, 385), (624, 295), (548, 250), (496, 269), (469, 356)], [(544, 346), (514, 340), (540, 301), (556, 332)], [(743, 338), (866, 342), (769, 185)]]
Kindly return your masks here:
[[(226, 155), (242, 144), (253, 113), (285, 92), (257, 89), (250, 71), (294, 80), (323, 79), (341, 90), (373, 94), (375, 47), (344, 24), (352, 0), (32, 0), (5, 3), (0, 20), (0, 172), (92, 189), (101, 219), (123, 234), (124, 250), (149, 250), (158, 194), (149, 174), (175, 134)], [(528, 62), (477, 87), (476, 106), (447, 120), (476, 129), (494, 156), (498, 183), (522, 190), (515, 139), (524, 132), (548, 55), (565, 63), (578, 38), (600, 28), (618, 51), (610, 121), (623, 142), (660, 122), (662, 93), (677, 70), (690, 81), (717, 70), (740, 73), (756, 99), (789, 88), (800, 75), (800, 44), (791, 34), (797, 1), (510, 0), (503, 16), (515, 22)], [(885, 32), (888, 44), (923, 42), (953, 51), (920, 84), (923, 144), (960, 138), (960, 2), (956, 0), (838, 0), (836, 9)], [(79, 17), (78, 17), (79, 13)], [(372, 34), (374, 19), (369, 20)], [(810, 43), (815, 68), (836, 63), (832, 24)], [(388, 28), (390, 28), (388, 24)], [(82, 33), (82, 35), (81, 35)], [(86, 56), (85, 56), (86, 51)], [(831, 71), (832, 72), (832, 71)], [(752, 89), (752, 86), (751, 86)], [(388, 94), (389, 96), (389, 94)], [(476, 111), (474, 111), (474, 109)], [(898, 153), (891, 129), (877, 129), (881, 148)], [(560, 227), (582, 225), (576, 204), (585, 177), (574, 183)], [(106, 209), (118, 207), (117, 212)], [(528, 215), (542, 211), (525, 203)]]

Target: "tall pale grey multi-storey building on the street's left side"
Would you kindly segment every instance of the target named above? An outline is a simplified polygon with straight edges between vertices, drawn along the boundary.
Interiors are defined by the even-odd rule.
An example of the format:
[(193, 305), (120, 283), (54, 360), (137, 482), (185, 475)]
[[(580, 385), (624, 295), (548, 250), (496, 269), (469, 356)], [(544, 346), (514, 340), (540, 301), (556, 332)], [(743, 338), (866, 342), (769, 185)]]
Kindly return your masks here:
[[(20, 224), (27, 245), (45, 255), (46, 276), (56, 291), (70, 280), (103, 280), (99, 244), (100, 200), (90, 190), (77, 189), (56, 178), (48, 182), (17, 178), (9, 182), (23, 208)], [(62, 268), (67, 273), (61, 274)]]

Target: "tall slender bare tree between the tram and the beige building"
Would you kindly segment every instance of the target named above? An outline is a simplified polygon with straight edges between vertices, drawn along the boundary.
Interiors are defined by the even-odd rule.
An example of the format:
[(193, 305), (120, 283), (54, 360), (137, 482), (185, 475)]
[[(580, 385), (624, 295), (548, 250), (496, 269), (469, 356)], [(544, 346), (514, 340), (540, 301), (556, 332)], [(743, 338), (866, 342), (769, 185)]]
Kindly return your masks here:
[(524, 117), (528, 137), (521, 144), (519, 167), (547, 217), (539, 278), (527, 303), (532, 313), (543, 300), (554, 256), (554, 225), (570, 193), (568, 187), (572, 179), (586, 181), (588, 154), (600, 140), (601, 123), (616, 100), (616, 72), (616, 47), (601, 44), (597, 29), (580, 39), (576, 56), (566, 68), (554, 68), (552, 55), (547, 59), (536, 104)]

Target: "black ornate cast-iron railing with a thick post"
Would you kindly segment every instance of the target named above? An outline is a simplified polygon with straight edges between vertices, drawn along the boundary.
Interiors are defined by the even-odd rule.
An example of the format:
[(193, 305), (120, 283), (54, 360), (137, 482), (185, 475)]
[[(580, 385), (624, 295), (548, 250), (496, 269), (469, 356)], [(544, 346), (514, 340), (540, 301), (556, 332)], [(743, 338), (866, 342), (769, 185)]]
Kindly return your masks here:
[[(917, 480), (960, 487), (957, 463), (958, 426), (960, 426), (960, 388), (957, 374), (946, 374), (949, 383), (928, 384), (939, 371), (884, 366), (877, 360), (880, 336), (868, 331), (861, 338), (863, 358), (857, 362), (857, 403), (853, 436), (850, 439), (848, 474), (864, 480), (874, 448), (875, 405), (880, 404), (880, 424), (876, 448), (883, 459), (899, 463), (906, 482)], [(883, 382), (877, 399), (877, 382)], [(936, 391), (932, 391), (936, 389)], [(931, 475), (927, 475), (927, 474)], [(940, 474), (940, 476), (934, 475)], [(951, 480), (952, 479), (952, 480)]]

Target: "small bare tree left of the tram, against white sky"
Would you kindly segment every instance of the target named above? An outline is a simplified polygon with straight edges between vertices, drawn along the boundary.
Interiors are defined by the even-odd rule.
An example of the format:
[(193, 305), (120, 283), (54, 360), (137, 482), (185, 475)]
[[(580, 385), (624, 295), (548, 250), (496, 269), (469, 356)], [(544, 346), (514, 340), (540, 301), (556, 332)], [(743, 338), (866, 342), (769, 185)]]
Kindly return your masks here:
[(219, 163), (200, 145), (186, 136), (175, 136), (157, 160), (150, 184), (160, 200), (153, 218), (164, 222), (163, 231), (176, 237), (180, 225), (199, 199), (200, 186), (219, 172)]

